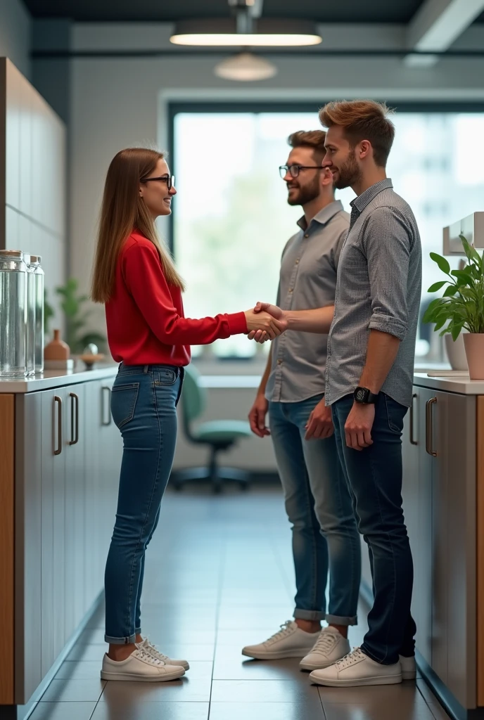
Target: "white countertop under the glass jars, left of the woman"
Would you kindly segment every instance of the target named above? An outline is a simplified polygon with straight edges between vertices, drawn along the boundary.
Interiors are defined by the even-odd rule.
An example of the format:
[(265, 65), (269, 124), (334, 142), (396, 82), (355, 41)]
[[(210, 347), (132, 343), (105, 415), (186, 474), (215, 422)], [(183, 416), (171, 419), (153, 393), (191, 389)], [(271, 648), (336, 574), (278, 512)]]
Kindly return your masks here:
[(79, 362), (78, 367), (73, 370), (45, 370), (34, 377), (0, 377), (0, 392), (37, 392), (76, 382), (102, 380), (115, 375), (117, 367), (114, 363), (99, 363), (93, 369), (86, 370), (84, 363)]

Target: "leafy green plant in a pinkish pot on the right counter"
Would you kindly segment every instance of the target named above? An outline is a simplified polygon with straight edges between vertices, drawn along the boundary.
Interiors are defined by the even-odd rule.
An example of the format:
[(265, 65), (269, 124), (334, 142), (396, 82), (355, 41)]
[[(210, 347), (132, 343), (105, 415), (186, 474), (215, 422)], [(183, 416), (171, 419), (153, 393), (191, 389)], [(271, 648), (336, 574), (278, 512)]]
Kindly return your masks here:
[[(432, 300), (426, 310), (424, 323), (435, 323), (440, 335), (449, 333), (456, 341), (462, 330), (465, 354), (472, 380), (484, 379), (484, 263), (478, 251), (464, 235), (460, 235), (467, 256), (467, 265), (451, 270), (449, 262), (437, 253), (430, 253), (434, 262), (449, 279), (435, 282), (429, 292), (438, 292), (447, 285), (442, 297)], [(447, 323), (447, 324), (446, 324)]]

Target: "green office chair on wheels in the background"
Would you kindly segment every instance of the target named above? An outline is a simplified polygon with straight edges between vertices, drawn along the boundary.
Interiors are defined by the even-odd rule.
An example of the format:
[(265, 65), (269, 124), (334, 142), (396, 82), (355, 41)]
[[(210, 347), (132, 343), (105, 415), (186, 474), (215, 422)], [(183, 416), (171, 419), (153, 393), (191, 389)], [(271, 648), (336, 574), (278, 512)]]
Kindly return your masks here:
[(176, 470), (171, 475), (171, 484), (175, 490), (181, 485), (195, 480), (210, 480), (214, 492), (220, 492), (225, 480), (238, 482), (246, 490), (250, 473), (233, 467), (220, 467), (220, 452), (233, 447), (240, 438), (251, 436), (251, 428), (244, 420), (210, 420), (193, 426), (194, 420), (202, 415), (207, 404), (205, 388), (200, 385), (200, 373), (193, 365), (185, 368), (183, 391), (181, 392), (181, 411), (184, 433), (188, 440), (210, 448), (207, 467), (193, 467)]

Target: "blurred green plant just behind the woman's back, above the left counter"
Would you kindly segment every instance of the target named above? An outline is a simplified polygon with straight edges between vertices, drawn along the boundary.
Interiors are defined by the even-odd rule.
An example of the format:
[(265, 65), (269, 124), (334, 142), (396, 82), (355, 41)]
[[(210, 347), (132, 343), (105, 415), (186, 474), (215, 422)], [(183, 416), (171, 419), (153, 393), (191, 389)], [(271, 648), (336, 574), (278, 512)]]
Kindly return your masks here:
[(84, 304), (89, 300), (87, 295), (78, 292), (79, 282), (71, 277), (65, 285), (56, 287), (55, 292), (62, 298), (60, 307), (66, 315), (66, 343), (73, 355), (79, 355), (86, 345), (94, 343), (104, 346), (106, 338), (101, 333), (86, 331), (86, 324), (90, 310), (84, 310)]

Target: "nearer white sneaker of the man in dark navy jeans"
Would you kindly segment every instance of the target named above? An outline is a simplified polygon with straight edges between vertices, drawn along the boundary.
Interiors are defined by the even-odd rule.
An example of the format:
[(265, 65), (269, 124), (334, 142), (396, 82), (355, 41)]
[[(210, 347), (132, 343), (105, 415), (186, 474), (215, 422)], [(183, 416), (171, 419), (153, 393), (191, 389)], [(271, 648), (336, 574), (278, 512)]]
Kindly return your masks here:
[(381, 665), (356, 647), (334, 665), (314, 670), (309, 679), (330, 688), (356, 688), (360, 685), (396, 685), (402, 682), (400, 660), (395, 665)]

